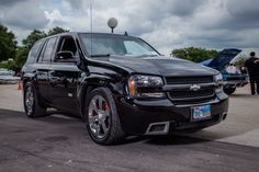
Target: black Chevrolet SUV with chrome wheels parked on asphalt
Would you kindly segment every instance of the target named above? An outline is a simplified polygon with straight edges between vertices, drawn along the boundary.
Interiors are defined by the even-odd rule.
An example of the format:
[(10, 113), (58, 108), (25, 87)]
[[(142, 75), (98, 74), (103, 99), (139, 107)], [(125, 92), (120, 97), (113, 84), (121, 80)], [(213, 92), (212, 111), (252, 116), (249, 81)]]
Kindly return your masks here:
[(228, 96), (214, 69), (161, 56), (138, 37), (65, 33), (32, 47), (22, 69), (29, 117), (48, 107), (81, 116), (91, 138), (195, 131), (226, 118)]

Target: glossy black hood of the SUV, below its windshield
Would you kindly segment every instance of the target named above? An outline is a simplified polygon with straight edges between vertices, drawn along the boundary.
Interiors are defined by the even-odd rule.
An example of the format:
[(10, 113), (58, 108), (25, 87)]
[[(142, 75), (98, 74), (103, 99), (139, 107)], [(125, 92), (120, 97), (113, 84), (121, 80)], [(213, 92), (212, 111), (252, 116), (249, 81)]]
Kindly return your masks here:
[(172, 57), (119, 57), (111, 56), (108, 61), (133, 70), (137, 73), (159, 76), (211, 76), (218, 71), (191, 61)]

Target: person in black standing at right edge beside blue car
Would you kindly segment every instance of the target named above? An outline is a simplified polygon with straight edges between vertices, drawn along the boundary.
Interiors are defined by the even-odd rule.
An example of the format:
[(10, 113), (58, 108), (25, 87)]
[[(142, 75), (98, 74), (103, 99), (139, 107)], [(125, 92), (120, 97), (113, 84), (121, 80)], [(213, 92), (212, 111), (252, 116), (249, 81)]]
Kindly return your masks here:
[(245, 67), (249, 74), (251, 94), (252, 95), (256, 94), (255, 84), (257, 84), (257, 94), (259, 94), (259, 73), (258, 73), (259, 59), (256, 57), (255, 51), (250, 53), (250, 58), (246, 60)]

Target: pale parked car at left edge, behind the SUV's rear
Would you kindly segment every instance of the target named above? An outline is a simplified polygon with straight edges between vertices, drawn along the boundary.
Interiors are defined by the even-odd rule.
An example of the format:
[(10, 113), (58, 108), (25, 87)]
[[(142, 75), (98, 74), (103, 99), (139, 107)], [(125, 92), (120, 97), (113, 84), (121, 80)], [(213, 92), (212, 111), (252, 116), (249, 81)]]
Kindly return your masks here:
[(14, 71), (0, 69), (0, 83), (18, 83), (21, 80), (20, 77), (14, 77)]

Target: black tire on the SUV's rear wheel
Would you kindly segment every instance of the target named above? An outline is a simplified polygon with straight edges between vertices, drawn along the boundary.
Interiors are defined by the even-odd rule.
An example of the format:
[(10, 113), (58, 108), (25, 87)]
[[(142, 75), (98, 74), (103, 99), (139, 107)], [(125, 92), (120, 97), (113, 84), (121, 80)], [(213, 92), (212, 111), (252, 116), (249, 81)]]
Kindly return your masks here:
[[(26, 99), (27, 94), (32, 93), (33, 101), (32, 105), (29, 106)], [(46, 116), (47, 114), (47, 108), (44, 105), (41, 105), (40, 100), (38, 100), (38, 94), (36, 92), (35, 87), (31, 82), (26, 82), (24, 85), (24, 91), (23, 91), (23, 105), (24, 105), (24, 111), (27, 117), (42, 117)]]

